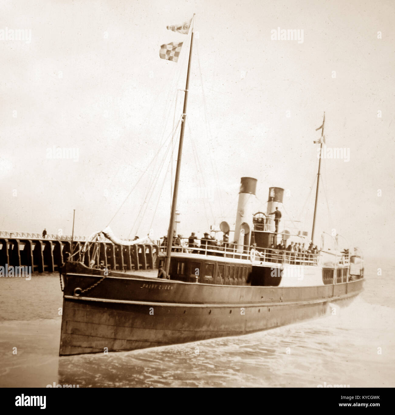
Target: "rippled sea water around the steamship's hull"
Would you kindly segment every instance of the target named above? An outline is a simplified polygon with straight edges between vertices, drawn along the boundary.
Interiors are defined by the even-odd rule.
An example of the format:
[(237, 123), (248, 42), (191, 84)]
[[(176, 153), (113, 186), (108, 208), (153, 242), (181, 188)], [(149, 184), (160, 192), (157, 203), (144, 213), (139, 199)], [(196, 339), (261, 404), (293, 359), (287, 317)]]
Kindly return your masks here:
[(314, 320), (240, 337), (62, 357), (59, 274), (0, 278), (0, 386), (394, 387), (395, 266), (372, 260), (365, 274), (365, 291), (351, 305), (329, 305)]

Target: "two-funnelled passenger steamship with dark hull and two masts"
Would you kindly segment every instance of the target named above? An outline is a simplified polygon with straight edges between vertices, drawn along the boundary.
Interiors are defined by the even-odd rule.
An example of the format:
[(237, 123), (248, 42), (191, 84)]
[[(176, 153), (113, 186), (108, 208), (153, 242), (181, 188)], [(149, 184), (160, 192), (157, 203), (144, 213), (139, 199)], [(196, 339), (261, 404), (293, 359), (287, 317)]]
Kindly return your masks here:
[[(270, 187), (266, 212), (254, 211), (255, 178), (241, 178), (231, 243), (215, 245), (204, 237), (179, 244), (173, 237), (192, 44), (191, 27), (168, 243), (120, 241), (104, 229), (81, 251), (72, 252), (61, 270), (60, 355), (240, 336), (324, 315), (329, 303), (349, 303), (363, 289), (363, 259), (358, 253), (323, 246), (309, 252), (278, 248), (281, 242), (303, 241), (306, 235), (285, 229), (282, 220), (271, 215), (276, 208), (282, 211), (282, 188)], [(322, 126), (321, 135), (323, 131)], [(319, 169), (320, 164), (321, 159)], [(318, 179), (319, 174), (320, 170)], [(315, 213), (316, 208), (312, 239)], [(229, 234), (226, 222), (221, 231)], [(152, 269), (136, 266), (124, 271), (101, 264), (103, 236), (121, 247), (133, 245), (136, 252), (149, 253)], [(122, 255), (123, 249), (119, 251)], [(169, 279), (157, 278), (160, 265)]]

